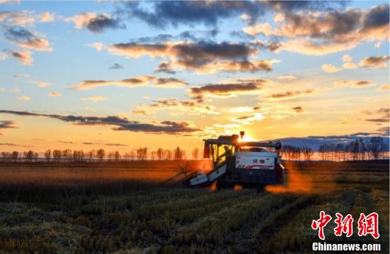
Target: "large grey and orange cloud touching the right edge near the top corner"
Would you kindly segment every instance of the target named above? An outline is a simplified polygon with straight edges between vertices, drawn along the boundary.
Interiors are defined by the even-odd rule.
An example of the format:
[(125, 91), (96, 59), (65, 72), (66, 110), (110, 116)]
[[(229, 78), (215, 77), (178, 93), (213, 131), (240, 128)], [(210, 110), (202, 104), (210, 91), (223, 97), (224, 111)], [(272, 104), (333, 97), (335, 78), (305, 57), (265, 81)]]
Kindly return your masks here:
[(277, 13), (276, 26), (269, 23), (243, 28), (248, 35), (290, 38), (278, 50), (325, 55), (355, 48), (364, 41), (389, 40), (389, 5), (345, 11)]

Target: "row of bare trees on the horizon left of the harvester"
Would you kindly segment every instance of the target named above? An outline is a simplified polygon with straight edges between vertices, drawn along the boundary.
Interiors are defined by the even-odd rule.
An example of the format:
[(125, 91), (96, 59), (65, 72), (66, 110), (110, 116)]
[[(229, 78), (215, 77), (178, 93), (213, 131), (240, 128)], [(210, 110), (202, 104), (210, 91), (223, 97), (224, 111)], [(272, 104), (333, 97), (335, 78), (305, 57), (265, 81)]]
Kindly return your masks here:
[[(199, 159), (199, 148), (191, 150), (192, 159)], [(36, 162), (45, 160), (46, 162), (101, 162), (101, 161), (145, 161), (145, 160), (186, 160), (186, 152), (182, 148), (174, 148), (173, 150), (157, 148), (150, 150), (149, 148), (138, 148), (121, 154), (118, 150), (107, 152), (104, 149), (98, 150), (45, 150), (43, 157), (33, 150), (28, 150), (23, 153), (18, 151), (2, 152), (2, 161), (11, 162)]]

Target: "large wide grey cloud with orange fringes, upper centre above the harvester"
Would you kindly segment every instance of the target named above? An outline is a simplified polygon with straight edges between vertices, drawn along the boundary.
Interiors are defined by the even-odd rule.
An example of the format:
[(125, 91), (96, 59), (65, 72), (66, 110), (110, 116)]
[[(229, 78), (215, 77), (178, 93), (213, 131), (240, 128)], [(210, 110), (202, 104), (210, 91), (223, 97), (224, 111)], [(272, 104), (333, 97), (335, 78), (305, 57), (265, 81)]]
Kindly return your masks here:
[(257, 55), (257, 48), (244, 43), (213, 42), (165, 42), (156, 44), (117, 43), (111, 46), (91, 45), (96, 50), (106, 49), (114, 55), (138, 58), (167, 57), (155, 70), (174, 73), (175, 70), (191, 70), (198, 73), (213, 72), (257, 72), (272, 70), (279, 60), (248, 60)]

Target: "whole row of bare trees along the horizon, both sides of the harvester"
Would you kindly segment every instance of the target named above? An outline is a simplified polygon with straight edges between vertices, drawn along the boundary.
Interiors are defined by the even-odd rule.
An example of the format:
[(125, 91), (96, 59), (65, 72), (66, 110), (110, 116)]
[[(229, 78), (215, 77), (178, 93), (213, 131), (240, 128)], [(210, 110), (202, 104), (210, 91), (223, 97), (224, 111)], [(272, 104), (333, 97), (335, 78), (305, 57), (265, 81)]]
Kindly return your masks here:
[[(384, 158), (389, 148), (381, 137), (372, 137), (369, 140), (358, 138), (350, 143), (325, 143), (318, 148), (318, 155), (321, 160), (345, 161), (345, 160), (378, 160)], [(284, 160), (313, 160), (315, 151), (308, 146), (283, 145), (280, 155)], [(199, 148), (191, 150), (191, 158), (199, 159)], [(3, 161), (24, 161), (35, 162), (45, 160), (47, 162), (101, 162), (101, 161), (145, 161), (145, 160), (186, 160), (186, 152), (182, 148), (173, 150), (157, 148), (133, 149), (126, 153), (118, 150), (107, 152), (104, 149), (98, 150), (46, 150), (43, 157), (38, 153), (28, 150), (23, 153), (18, 151), (2, 152)]]

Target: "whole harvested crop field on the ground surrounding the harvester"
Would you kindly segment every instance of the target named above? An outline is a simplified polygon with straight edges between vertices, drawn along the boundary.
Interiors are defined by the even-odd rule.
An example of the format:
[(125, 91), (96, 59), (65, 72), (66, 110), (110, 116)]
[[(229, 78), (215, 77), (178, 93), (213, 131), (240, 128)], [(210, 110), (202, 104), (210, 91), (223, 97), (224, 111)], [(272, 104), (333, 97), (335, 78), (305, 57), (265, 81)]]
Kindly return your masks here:
[[(389, 162), (287, 163), (289, 184), (186, 189), (186, 162), (0, 166), (0, 253), (312, 253), (321, 210), (379, 214), (389, 250)], [(331, 222), (333, 223), (333, 222)], [(331, 224), (330, 223), (330, 224)]]

